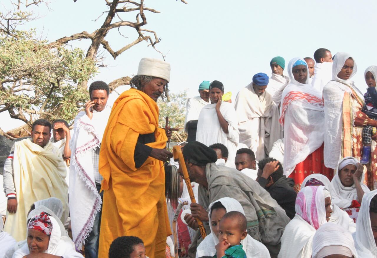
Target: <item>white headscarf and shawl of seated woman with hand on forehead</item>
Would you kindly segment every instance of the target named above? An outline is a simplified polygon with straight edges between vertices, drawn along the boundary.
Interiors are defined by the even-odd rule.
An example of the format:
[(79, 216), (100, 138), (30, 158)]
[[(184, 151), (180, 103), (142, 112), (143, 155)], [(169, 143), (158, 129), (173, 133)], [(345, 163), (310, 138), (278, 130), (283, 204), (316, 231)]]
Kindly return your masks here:
[[(345, 209), (351, 206), (352, 200), (357, 200), (357, 191), (355, 184), (352, 184), (350, 187), (343, 186), (342, 182), (339, 178), (339, 172), (340, 170), (349, 165), (355, 165), (357, 167), (357, 163), (359, 163), (356, 158), (354, 157), (345, 157), (343, 158), (338, 167), (337, 174), (334, 175), (333, 180), (331, 180), (331, 187), (333, 188), (333, 202), (337, 206), (339, 206), (340, 209)], [(361, 184), (362, 189), (364, 192), (370, 192), (368, 187), (362, 182), (364, 177), (360, 177), (359, 182)]]

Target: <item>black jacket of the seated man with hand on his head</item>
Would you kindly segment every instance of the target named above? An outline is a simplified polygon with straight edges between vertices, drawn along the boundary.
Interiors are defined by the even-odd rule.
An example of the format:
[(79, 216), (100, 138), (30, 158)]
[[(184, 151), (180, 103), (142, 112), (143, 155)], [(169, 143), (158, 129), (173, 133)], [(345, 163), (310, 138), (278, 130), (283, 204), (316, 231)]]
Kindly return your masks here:
[(296, 205), (297, 193), (293, 189), (294, 180), (292, 178), (287, 178), (285, 176), (280, 177), (271, 186), (266, 187), (267, 179), (260, 177), (258, 183), (270, 193), (271, 197), (274, 198), (287, 213), (290, 219), (293, 219), (296, 214), (294, 206)]

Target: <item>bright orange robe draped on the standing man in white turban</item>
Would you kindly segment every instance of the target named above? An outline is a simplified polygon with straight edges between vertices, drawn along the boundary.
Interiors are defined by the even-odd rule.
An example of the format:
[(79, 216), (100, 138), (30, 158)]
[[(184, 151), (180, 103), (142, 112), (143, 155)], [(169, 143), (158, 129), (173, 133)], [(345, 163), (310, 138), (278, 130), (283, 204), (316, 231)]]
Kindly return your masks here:
[(113, 105), (100, 150), (104, 195), (98, 257), (108, 257), (110, 244), (118, 236), (138, 236), (144, 241), (147, 256), (165, 257), (166, 238), (171, 232), (164, 165), (148, 157), (136, 168), (134, 161), (140, 134), (154, 132), (156, 141), (146, 145), (166, 147), (158, 115), (156, 102), (136, 89), (123, 92)]

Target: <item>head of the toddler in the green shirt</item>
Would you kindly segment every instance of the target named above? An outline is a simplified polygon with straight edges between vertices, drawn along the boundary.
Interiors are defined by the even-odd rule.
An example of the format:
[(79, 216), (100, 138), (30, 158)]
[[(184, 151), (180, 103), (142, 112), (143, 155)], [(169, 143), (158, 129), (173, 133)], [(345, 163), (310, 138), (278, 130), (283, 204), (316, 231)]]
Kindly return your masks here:
[(230, 246), (236, 246), (241, 243), (247, 236), (246, 231), (242, 231), (238, 223), (230, 218), (225, 218), (219, 223), (219, 241), (225, 241), (225, 243), (230, 244)]

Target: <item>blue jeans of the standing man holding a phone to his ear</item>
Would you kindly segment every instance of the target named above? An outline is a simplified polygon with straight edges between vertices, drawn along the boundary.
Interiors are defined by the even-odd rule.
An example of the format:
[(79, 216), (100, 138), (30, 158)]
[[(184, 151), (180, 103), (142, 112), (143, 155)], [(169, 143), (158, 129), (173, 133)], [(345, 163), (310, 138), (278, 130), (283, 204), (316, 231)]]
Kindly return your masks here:
[[(96, 183), (97, 191), (100, 192), (101, 184)], [(103, 192), (100, 193), (101, 199), (103, 200)], [(95, 216), (93, 229), (90, 231), (89, 236), (86, 238), (84, 244), (85, 258), (98, 258), (98, 246), (100, 242), (100, 226), (101, 226), (101, 210)]]

